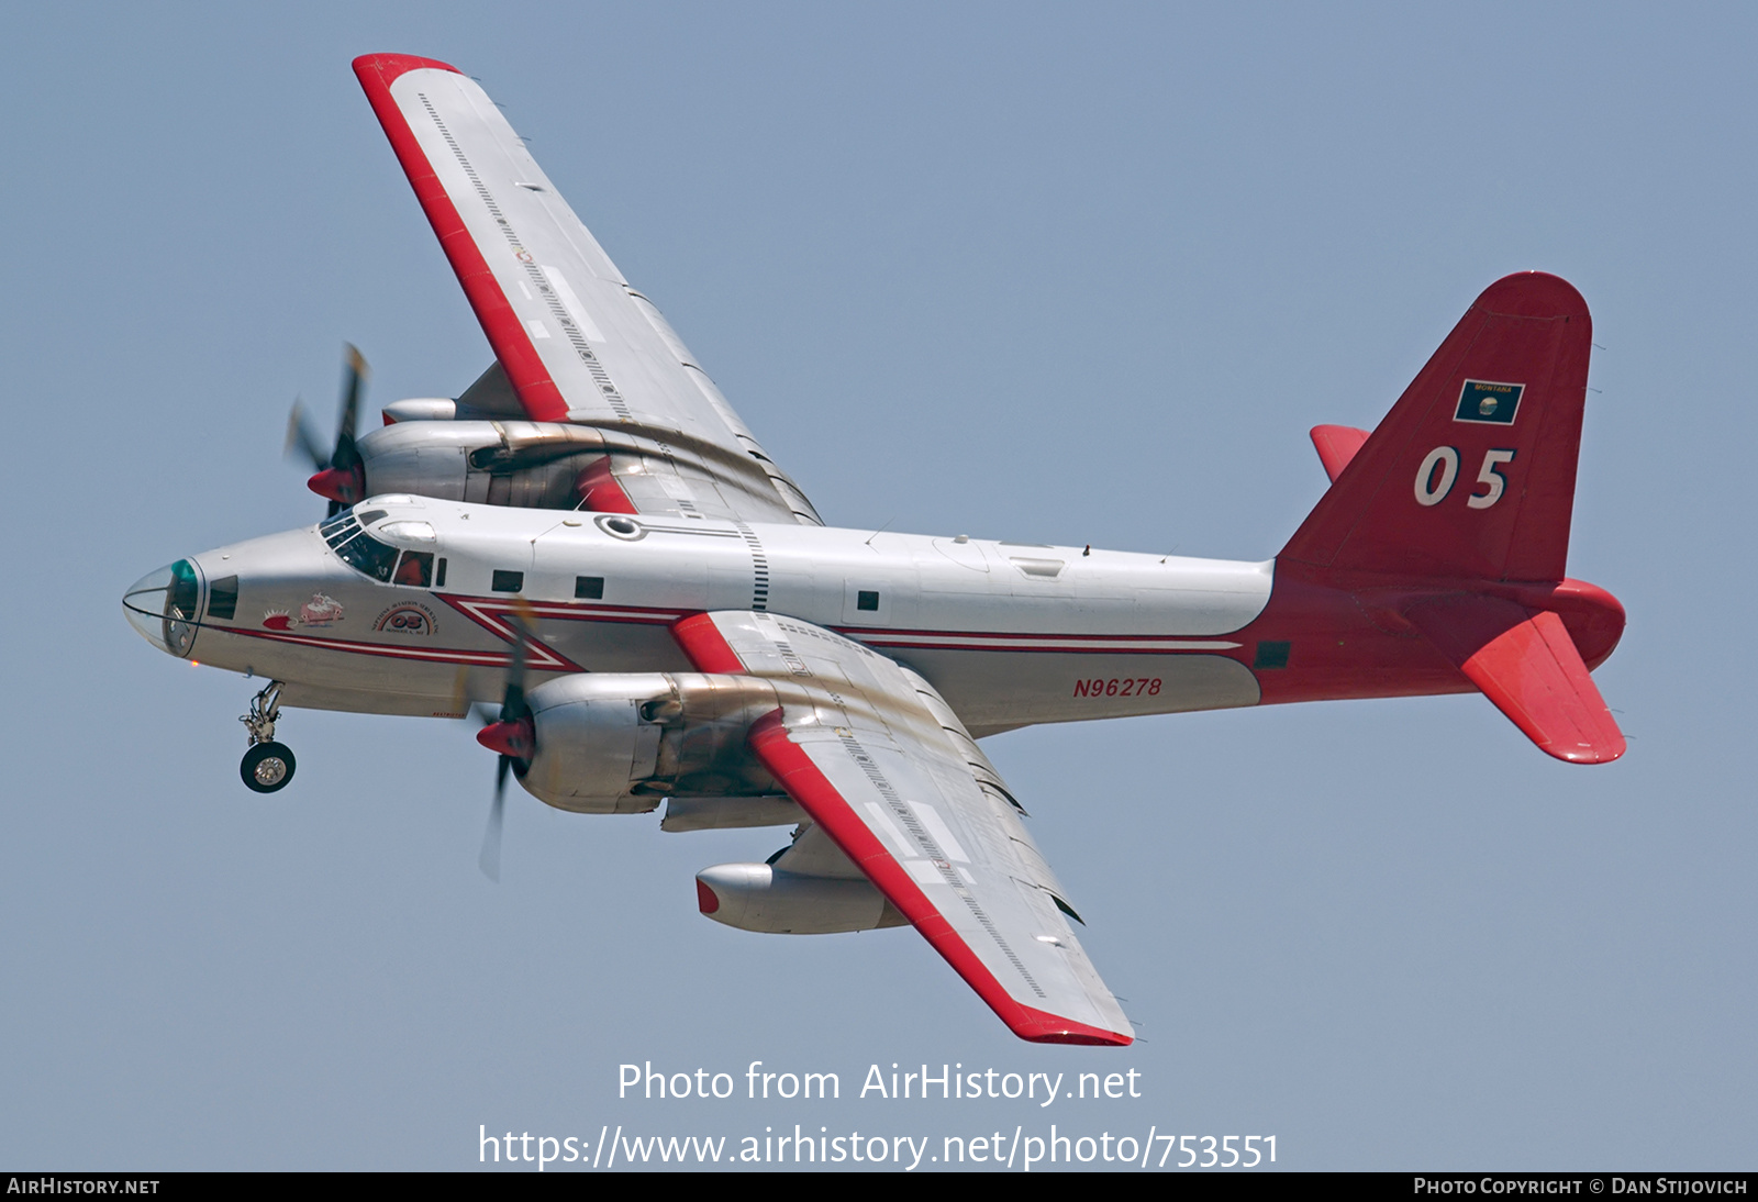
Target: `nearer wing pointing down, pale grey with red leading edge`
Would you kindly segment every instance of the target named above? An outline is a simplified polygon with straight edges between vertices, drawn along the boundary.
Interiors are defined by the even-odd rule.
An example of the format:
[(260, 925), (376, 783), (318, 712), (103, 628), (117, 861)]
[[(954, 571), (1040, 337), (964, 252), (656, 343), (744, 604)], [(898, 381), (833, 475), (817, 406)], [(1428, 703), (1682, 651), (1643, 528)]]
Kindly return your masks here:
[(701, 671), (774, 684), (781, 706), (752, 728), (752, 752), (1016, 1035), (1132, 1042), (1018, 801), (926, 680), (770, 613), (703, 613), (673, 633)]

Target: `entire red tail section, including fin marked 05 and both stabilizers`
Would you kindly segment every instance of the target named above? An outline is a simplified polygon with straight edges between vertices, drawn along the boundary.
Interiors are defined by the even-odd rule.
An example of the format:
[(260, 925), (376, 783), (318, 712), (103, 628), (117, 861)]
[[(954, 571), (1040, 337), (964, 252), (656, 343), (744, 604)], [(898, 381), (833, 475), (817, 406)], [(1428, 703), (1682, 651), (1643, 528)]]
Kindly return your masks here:
[(1475, 687), (1558, 759), (1623, 756), (1587, 670), (1624, 610), (1565, 576), (1591, 346), (1573, 286), (1507, 276), (1371, 434), (1313, 429), (1331, 489), (1239, 633), (1266, 703)]

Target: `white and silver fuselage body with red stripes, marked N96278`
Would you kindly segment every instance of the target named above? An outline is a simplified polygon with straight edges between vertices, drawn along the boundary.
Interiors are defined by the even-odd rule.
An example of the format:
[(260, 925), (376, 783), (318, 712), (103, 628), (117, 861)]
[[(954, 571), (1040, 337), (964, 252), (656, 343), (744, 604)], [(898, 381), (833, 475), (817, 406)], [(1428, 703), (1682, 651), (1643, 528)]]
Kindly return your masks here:
[[(204, 617), (192, 659), (281, 680), (287, 705), (447, 715), (499, 699), (510, 612), (536, 631), (541, 680), (687, 671), (673, 620), (761, 608), (909, 664), (977, 735), (1259, 699), (1229, 634), (1264, 610), (1273, 562), (420, 497), (355, 508), (387, 511), (369, 531), (427, 522), (436, 543), (383, 541), (443, 557), (445, 583), (380, 583), (315, 527), (223, 547), (193, 557), (202, 613), (206, 583), (236, 575), (236, 617)], [(519, 592), (496, 592), (496, 571), (522, 573)], [(591, 578), (603, 596), (577, 596)]]

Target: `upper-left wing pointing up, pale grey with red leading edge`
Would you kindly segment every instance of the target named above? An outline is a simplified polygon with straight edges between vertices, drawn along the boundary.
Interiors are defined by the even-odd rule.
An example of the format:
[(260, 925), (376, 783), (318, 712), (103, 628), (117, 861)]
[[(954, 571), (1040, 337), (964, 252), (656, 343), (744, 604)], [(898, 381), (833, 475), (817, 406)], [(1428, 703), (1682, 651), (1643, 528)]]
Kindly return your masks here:
[(480, 399), (603, 431), (635, 511), (819, 524), (475, 81), (408, 54), (353, 69), (494, 348)]

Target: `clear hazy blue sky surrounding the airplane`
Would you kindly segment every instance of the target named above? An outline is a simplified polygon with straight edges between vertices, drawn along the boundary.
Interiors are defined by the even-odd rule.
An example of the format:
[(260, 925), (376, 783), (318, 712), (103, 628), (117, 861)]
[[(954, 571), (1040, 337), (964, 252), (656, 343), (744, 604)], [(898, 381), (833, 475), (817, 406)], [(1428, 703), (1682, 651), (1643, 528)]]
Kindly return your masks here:
[[(1739, 5), (12, 5), (0, 16), (0, 1165), (454, 1169), (478, 1125), (1278, 1137), (1299, 1169), (1754, 1160), (1758, 18)], [(287, 406), (490, 353), (348, 62), (480, 77), (828, 520), (1262, 559), (1470, 300), (1596, 341), (1570, 571), (1631, 736), (1482, 698), (988, 742), (1127, 998), (1014, 1040), (911, 931), (782, 938), (661, 835), (515, 793), (457, 722), (292, 712), (123, 622), (151, 568), (315, 520)], [(373, 404), (376, 402), (376, 404)], [(840, 1072), (619, 1102), (617, 1065)], [(870, 1063), (1139, 1100), (856, 1100)], [(742, 1079), (742, 1077), (740, 1077)], [(1035, 1125), (1035, 1126), (1034, 1126)]]

